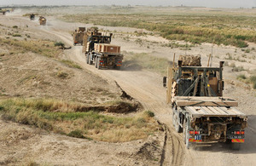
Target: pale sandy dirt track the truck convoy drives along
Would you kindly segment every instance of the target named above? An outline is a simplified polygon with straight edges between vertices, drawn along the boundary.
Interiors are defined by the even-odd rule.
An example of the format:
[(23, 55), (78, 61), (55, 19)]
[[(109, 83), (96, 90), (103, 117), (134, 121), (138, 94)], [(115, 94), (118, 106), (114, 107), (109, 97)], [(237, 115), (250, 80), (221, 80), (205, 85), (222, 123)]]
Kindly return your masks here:
[[(72, 37), (68, 31), (72, 30), (73, 26), (55, 20), (54, 18), (49, 19), (48, 21), (50, 26), (40, 26), (39, 28), (35, 28), (38, 28), (42, 33), (48, 33), (49, 35), (58, 37), (65, 43), (72, 45)], [(108, 29), (108, 27), (105, 28)], [(113, 41), (113, 43), (119, 45), (124, 44), (124, 41), (120, 38), (114, 38)], [(136, 45), (136, 43), (126, 43), (129, 46), (125, 46), (126, 51), (136, 47), (139, 48), (139, 45)], [(255, 96), (253, 95), (255, 94), (248, 89), (238, 89), (236, 80), (234, 80), (235, 85), (226, 85), (225, 92), (228, 96), (235, 96), (236, 100), (241, 103), (239, 109), (250, 115), (248, 118), (249, 126), (246, 129), (246, 142), (241, 146), (241, 151), (233, 152), (230, 150), (230, 147), (225, 144), (195, 146), (187, 150), (183, 144), (182, 135), (177, 134), (172, 127), (172, 110), (169, 106), (166, 106), (166, 89), (162, 88), (162, 77), (160, 77), (160, 75), (154, 72), (134, 70), (125, 66), (120, 71), (99, 71), (95, 66), (89, 66), (85, 63), (85, 57), (82, 54), (81, 49), (82, 47), (80, 46), (73, 47), (73, 49), (67, 51), (66, 58), (79, 63), (84, 69), (96, 73), (100, 77), (116, 81), (127, 94), (130, 94), (133, 98), (139, 100), (145, 109), (153, 111), (156, 118), (159, 119), (161, 123), (166, 124), (169, 133), (166, 135), (166, 149), (162, 159), (163, 165), (256, 164), (256, 113), (253, 110), (255, 108)], [(165, 49), (163, 49), (163, 51), (165, 51)], [(162, 54), (165, 53), (162, 52)], [(172, 57), (168, 58), (172, 60)], [(207, 58), (204, 57), (204, 59)], [(233, 76), (229, 72), (225, 72), (224, 74), (227, 74), (226, 77), (230, 77), (230, 79), (236, 79), (236, 76)], [(251, 106), (252, 109), (250, 109), (249, 106)]]

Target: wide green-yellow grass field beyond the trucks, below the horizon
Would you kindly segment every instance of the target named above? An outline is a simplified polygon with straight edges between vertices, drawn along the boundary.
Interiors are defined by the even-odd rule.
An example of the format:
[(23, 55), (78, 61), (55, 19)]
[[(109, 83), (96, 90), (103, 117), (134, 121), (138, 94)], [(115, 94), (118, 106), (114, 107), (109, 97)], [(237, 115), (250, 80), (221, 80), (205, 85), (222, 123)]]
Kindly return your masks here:
[[(133, 11), (130, 11), (133, 12)], [(127, 26), (160, 33), (170, 40), (189, 43), (216, 43), (238, 48), (256, 43), (254, 16), (233, 14), (67, 14), (62, 20), (101, 26)], [(228, 20), (228, 21), (227, 21)], [(244, 25), (244, 27), (241, 27)]]

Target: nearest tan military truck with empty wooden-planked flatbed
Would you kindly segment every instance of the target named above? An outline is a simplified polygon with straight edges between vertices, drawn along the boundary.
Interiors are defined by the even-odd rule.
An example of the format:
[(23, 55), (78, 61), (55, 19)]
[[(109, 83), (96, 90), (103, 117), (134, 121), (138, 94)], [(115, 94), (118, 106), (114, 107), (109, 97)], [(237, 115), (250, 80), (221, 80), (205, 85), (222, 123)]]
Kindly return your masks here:
[[(195, 63), (197, 61), (197, 63)], [(180, 56), (173, 60), (163, 82), (166, 101), (172, 106), (172, 123), (183, 132), (187, 148), (193, 143), (230, 142), (239, 150), (244, 142), (247, 115), (236, 109), (236, 100), (223, 97), (223, 65), (201, 66), (201, 58)]]

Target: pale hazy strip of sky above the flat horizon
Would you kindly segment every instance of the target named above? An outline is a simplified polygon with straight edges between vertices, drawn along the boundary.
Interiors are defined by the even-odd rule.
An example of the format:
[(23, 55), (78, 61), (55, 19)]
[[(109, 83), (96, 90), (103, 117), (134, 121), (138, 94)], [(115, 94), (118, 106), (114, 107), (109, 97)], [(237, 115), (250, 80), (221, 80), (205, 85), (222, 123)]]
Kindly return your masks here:
[(204, 6), (212, 8), (252, 8), (256, 0), (0, 0), (0, 5), (152, 5), (152, 6)]

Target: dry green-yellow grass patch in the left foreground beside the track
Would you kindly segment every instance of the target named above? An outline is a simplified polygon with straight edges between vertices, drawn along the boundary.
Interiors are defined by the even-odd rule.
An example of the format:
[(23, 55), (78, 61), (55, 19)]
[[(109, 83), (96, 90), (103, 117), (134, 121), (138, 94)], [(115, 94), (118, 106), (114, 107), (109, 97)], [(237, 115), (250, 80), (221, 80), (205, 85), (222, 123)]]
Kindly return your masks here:
[(53, 99), (0, 100), (2, 118), (89, 140), (110, 142), (146, 138), (158, 129), (153, 112), (133, 117), (107, 116), (83, 111), (83, 104)]

